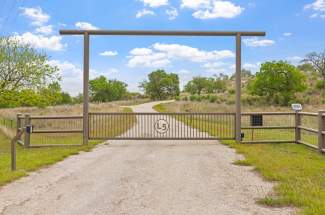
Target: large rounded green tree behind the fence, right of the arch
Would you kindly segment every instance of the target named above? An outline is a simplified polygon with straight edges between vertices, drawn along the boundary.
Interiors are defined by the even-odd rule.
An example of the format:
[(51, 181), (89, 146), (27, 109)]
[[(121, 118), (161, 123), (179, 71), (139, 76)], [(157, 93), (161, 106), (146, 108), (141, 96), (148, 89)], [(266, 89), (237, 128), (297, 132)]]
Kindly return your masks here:
[(295, 99), (296, 92), (306, 89), (306, 76), (295, 66), (284, 61), (262, 64), (248, 86), (252, 95), (264, 96), (270, 103), (288, 105)]

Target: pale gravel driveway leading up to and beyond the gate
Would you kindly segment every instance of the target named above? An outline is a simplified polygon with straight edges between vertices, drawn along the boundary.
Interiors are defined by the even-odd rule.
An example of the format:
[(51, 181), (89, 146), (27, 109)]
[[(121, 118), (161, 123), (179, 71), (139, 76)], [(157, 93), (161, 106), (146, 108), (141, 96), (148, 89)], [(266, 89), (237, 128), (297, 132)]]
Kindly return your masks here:
[(255, 203), (273, 184), (238, 159), (216, 141), (110, 141), (0, 188), (0, 214), (291, 214)]

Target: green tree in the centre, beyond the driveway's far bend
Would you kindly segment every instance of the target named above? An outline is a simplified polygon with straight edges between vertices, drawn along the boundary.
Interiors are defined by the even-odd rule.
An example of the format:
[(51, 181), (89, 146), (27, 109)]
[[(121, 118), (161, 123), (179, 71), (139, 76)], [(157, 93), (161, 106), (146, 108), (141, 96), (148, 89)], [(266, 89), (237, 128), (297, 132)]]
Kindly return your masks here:
[(179, 96), (179, 78), (177, 74), (156, 70), (148, 75), (148, 81), (140, 83), (140, 88), (151, 99), (164, 100)]

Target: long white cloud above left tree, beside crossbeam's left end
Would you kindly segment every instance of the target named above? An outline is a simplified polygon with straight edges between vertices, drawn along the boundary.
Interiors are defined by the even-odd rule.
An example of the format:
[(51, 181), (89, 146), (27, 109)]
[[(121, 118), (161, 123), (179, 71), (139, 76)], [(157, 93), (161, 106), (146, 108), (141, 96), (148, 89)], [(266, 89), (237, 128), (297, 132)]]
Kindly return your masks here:
[(26, 32), (21, 35), (12, 36), (18, 42), (23, 44), (29, 44), (34, 48), (47, 49), (51, 51), (61, 51), (66, 47), (66, 44), (62, 44), (61, 36), (44, 36), (39, 34), (33, 34), (31, 32)]

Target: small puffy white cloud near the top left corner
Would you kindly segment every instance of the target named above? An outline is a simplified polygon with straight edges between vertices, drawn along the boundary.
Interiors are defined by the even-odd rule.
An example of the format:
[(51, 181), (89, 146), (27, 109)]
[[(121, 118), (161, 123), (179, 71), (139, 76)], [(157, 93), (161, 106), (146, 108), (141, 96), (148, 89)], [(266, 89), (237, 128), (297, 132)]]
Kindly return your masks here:
[(40, 7), (21, 7), (22, 15), (32, 21), (32, 25), (42, 26), (47, 23), (50, 16), (43, 12)]

